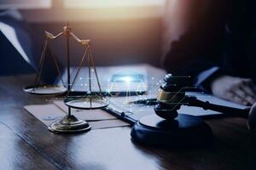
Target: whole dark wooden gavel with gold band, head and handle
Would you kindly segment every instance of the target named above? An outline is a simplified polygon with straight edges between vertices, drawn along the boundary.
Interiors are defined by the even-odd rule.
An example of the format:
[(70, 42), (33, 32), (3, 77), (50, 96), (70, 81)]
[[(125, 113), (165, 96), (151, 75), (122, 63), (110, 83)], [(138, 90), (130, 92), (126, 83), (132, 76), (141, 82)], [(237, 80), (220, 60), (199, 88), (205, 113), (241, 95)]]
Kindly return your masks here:
[[(241, 116), (247, 118), (249, 129), (256, 127), (256, 104), (250, 109), (238, 109), (224, 105), (211, 104), (209, 101), (201, 101), (195, 96), (188, 96), (185, 93), (193, 87), (190, 77), (175, 77), (172, 74), (167, 74), (164, 77), (164, 83), (160, 86), (160, 94), (158, 103), (154, 105), (154, 111), (157, 116), (160, 116), (168, 121), (173, 121), (177, 117), (177, 110), (181, 105), (197, 106), (204, 110), (212, 110), (223, 112), (232, 116)], [(195, 89), (195, 88), (194, 88)]]

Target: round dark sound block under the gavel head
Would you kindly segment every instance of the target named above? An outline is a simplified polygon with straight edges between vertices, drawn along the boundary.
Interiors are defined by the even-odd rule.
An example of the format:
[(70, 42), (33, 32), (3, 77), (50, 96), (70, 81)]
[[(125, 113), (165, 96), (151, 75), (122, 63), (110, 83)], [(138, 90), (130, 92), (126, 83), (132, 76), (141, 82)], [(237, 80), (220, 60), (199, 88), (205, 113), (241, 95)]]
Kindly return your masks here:
[(141, 144), (168, 146), (190, 146), (209, 144), (212, 129), (196, 116), (178, 114), (167, 121), (160, 116), (144, 116), (131, 129), (131, 138)]

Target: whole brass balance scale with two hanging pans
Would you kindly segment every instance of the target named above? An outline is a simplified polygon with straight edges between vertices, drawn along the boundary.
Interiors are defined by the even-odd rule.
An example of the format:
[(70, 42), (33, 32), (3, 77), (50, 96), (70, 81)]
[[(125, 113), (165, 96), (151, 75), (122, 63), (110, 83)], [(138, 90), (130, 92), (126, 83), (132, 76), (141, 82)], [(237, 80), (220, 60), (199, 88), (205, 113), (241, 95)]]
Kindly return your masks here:
[[(49, 48), (49, 54), (52, 58), (52, 60), (55, 63), (55, 69), (58, 72), (59, 77), (61, 77), (62, 85), (49, 85), (49, 84), (42, 84), (41, 83), (41, 74), (44, 67), (44, 59), (46, 57), (45, 52), (47, 47), (49, 46), (49, 40), (55, 40), (61, 36), (66, 37), (67, 39), (67, 85), (65, 85), (62, 77), (61, 77), (61, 71), (59, 68), (59, 65), (56, 62), (55, 55), (52, 54), (50, 48)], [(83, 57), (79, 63), (78, 71), (76, 72), (73, 82), (71, 82), (71, 73), (70, 73), (70, 37), (73, 37), (73, 39), (76, 42), (79, 42), (82, 46), (84, 46), (84, 54)], [(41, 96), (55, 96), (60, 94), (65, 94), (66, 99), (64, 99), (65, 105), (67, 105), (67, 116), (64, 116), (61, 120), (58, 120), (56, 122), (53, 122), (49, 127), (49, 131), (53, 133), (76, 133), (76, 132), (83, 132), (83, 131), (89, 131), (90, 130), (90, 124), (84, 120), (80, 120), (78, 117), (73, 116), (71, 108), (74, 109), (80, 109), (80, 110), (95, 110), (95, 109), (102, 109), (104, 107), (107, 107), (109, 104), (107, 96), (102, 93), (101, 84), (99, 82), (99, 78), (96, 71), (96, 66), (91, 54), (91, 48), (90, 48), (91, 41), (90, 40), (82, 40), (79, 39), (75, 34), (73, 34), (72, 29), (70, 26), (63, 27), (63, 31), (56, 36), (49, 33), (48, 31), (45, 31), (45, 41), (44, 41), (44, 47), (42, 50), (41, 58), (39, 60), (39, 66), (38, 66), (38, 72), (37, 76), (35, 78), (34, 85), (27, 86), (24, 88), (24, 91), (26, 94), (34, 94), (34, 95), (41, 95)], [(73, 88), (74, 82), (76, 81), (79, 71), (84, 63), (84, 59), (87, 57), (88, 60), (88, 68), (89, 68), (89, 91), (86, 92), (83, 96), (72, 96), (70, 95), (70, 92)], [(93, 70), (91, 70), (91, 68)], [(91, 71), (94, 71), (96, 76), (96, 83), (97, 88), (99, 89), (99, 93), (91, 93)]]

